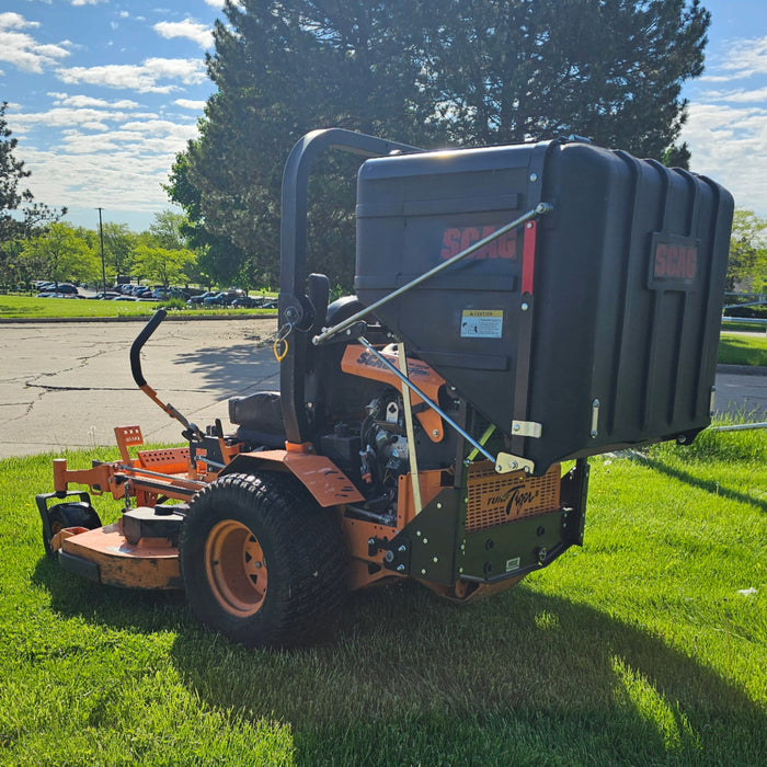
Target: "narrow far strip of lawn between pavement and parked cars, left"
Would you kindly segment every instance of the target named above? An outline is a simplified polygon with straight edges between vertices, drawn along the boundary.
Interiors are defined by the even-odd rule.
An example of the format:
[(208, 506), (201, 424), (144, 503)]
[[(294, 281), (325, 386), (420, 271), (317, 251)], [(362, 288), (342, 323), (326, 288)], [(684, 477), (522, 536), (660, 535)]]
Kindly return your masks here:
[[(81, 317), (146, 317), (149, 319), (160, 307), (161, 301), (94, 301), (76, 298), (31, 298), (28, 296), (0, 296), (0, 319), (48, 319), (64, 320)], [(210, 314), (266, 314), (274, 309), (172, 309), (171, 314), (183, 317), (209, 317)]]

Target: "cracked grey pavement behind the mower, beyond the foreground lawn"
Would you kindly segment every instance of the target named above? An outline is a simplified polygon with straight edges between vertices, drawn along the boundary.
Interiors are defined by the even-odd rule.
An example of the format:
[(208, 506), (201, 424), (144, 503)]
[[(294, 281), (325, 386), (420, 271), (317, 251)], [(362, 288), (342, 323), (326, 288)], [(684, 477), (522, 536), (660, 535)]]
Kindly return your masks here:
[[(147, 443), (182, 440), (181, 425), (138, 390), (129, 351), (140, 322), (0, 324), (0, 458), (114, 445), (114, 426)], [(276, 319), (165, 321), (141, 355), (147, 382), (199, 426), (229, 425), (228, 400), (279, 389)], [(767, 420), (767, 376), (717, 376), (716, 409)]]

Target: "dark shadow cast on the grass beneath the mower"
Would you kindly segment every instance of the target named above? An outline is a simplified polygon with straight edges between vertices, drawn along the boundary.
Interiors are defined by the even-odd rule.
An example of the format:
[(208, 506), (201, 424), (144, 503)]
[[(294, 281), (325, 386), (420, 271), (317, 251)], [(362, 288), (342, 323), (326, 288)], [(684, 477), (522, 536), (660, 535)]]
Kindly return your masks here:
[[(466, 608), (415, 584), (350, 596), (325, 645), (249, 651), (179, 597), (104, 589), (42, 562), (53, 607), (173, 630), (183, 684), (233, 721), (289, 724), (298, 764), (764, 764), (740, 686), (639, 625), (525, 585)], [(76, 583), (72, 583), (76, 582)]]

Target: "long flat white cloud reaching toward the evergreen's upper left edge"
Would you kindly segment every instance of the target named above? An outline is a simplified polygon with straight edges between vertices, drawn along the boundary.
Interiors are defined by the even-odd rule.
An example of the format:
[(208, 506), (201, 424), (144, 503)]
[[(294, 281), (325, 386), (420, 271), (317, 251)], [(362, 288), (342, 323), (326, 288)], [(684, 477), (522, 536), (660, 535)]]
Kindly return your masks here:
[(66, 83), (122, 88), (139, 93), (170, 93), (179, 90), (172, 83), (160, 84), (167, 80), (178, 80), (184, 85), (196, 85), (205, 80), (204, 64), (197, 59), (150, 58), (140, 65), (70, 67), (57, 69), (56, 73)]

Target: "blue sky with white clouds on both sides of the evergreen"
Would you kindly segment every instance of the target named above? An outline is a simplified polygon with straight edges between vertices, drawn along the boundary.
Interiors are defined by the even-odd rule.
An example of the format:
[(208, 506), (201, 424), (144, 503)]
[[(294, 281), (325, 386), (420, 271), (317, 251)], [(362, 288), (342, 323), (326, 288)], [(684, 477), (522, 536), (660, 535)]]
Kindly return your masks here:
[[(204, 56), (224, 0), (3, 0), (0, 100), (38, 202), (140, 230), (211, 93)], [(703, 0), (702, 78), (688, 83), (692, 170), (767, 217), (767, 2)], [(327, 126), (317, 126), (327, 127)], [(397, 139), (397, 136), (388, 138)]]

